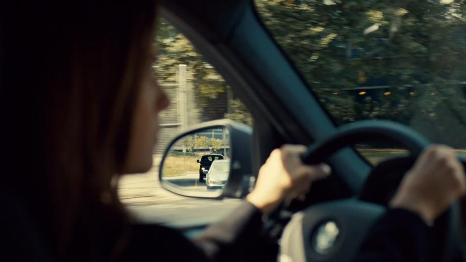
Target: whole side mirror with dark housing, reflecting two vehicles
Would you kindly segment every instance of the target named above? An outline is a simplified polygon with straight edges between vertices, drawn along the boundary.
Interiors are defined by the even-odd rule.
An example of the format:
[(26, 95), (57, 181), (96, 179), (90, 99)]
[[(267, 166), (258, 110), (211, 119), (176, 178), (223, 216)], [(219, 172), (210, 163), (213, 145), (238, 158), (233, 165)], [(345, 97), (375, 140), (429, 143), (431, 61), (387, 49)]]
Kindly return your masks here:
[(159, 169), (161, 185), (190, 197), (245, 196), (252, 175), (251, 142), (251, 127), (232, 120), (195, 126), (176, 136), (166, 148)]

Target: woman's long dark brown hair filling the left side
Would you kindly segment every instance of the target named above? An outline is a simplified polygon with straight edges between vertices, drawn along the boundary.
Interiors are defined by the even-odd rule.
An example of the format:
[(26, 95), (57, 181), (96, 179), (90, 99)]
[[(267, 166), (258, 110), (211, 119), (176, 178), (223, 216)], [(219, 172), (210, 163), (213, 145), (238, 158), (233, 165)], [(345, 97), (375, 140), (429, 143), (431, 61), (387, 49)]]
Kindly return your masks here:
[[(3, 3), (1, 187), (58, 261), (108, 260), (155, 0)], [(5, 193), (7, 192), (7, 193)]]

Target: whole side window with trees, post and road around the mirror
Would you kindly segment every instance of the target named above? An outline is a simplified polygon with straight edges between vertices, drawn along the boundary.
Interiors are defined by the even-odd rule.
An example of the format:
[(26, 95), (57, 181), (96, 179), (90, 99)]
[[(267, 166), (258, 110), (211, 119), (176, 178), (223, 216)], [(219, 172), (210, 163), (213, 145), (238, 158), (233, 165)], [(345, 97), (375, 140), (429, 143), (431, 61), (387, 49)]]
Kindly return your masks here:
[[(223, 118), (252, 126), (251, 114), (214, 67), (164, 19), (157, 23), (154, 45), (158, 60), (152, 66), (153, 72), (171, 104), (159, 115), (160, 131), (158, 143), (153, 149), (153, 168), (146, 174), (123, 176), (119, 181), (120, 199), (137, 217), (152, 222), (173, 223), (176, 218), (204, 218), (205, 212), (212, 211), (212, 206), (228, 211), (239, 201), (230, 200), (225, 204), (225, 201), (185, 198), (163, 189), (158, 181), (159, 163), (168, 143), (182, 130)], [(212, 130), (206, 139), (221, 136), (221, 132)], [(213, 144), (212, 153), (222, 154), (222, 149), (215, 148)], [(195, 159), (201, 159), (201, 165), (210, 166), (214, 160), (223, 157), (196, 156), (190, 164), (199, 169)], [(173, 164), (176, 166), (179, 163)], [(177, 208), (179, 205), (183, 208)], [(214, 213), (209, 215), (210, 218), (220, 218), (225, 212)]]

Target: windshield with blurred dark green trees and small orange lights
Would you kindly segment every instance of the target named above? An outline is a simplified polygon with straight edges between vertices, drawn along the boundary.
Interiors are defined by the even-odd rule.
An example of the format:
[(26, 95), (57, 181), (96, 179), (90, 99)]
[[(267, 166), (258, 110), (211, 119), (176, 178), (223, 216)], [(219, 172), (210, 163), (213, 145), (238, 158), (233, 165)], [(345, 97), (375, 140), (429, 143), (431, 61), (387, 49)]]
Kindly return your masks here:
[(466, 148), (465, 1), (255, 3), (336, 125), (393, 120)]

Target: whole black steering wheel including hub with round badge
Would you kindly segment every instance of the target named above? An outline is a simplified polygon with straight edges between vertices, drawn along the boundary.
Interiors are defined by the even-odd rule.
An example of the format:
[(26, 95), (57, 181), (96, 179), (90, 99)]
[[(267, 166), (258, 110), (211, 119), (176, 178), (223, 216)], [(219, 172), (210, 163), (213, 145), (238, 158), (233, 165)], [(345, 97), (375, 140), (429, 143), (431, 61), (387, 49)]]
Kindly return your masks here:
[[(399, 159), (398, 165), (391, 160), (391, 164), (381, 163), (375, 167), (368, 175), (359, 199), (319, 203), (295, 213), (283, 231), (280, 256), (291, 258), (291, 261), (352, 261), (366, 232), (385, 213), (387, 199), (391, 198), (404, 174), (429, 144), (421, 134), (396, 122), (359, 121), (342, 126), (335, 134), (309, 146), (301, 158), (306, 164), (322, 163), (338, 150), (368, 140), (396, 142), (404, 146), (410, 156)], [(384, 179), (391, 179), (393, 188), (374, 190), (367, 183), (383, 183), (380, 181)], [(454, 203), (435, 221), (434, 230), (440, 247), (437, 261), (453, 261), (460, 250), (461, 228), (459, 204)]]

